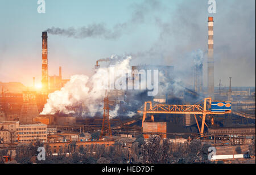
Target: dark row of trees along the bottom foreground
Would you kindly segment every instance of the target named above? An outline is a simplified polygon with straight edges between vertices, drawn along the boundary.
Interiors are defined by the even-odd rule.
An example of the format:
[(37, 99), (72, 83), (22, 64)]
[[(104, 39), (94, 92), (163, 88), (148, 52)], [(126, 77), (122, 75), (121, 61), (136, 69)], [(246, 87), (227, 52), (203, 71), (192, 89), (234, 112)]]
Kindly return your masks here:
[[(39, 163), (39, 164), (205, 164), (208, 160), (208, 148), (210, 145), (203, 144), (200, 140), (192, 140), (190, 143), (174, 144), (168, 139), (161, 140), (152, 136), (147, 142), (143, 136), (137, 139), (131, 147), (123, 147), (116, 142), (113, 146), (101, 145), (77, 146), (71, 143), (64, 150), (59, 150), (57, 156), (53, 156), (51, 150), (46, 146), (46, 160), (38, 161), (37, 148), (43, 146), (39, 142), (16, 148), (15, 160), (17, 163)], [(255, 142), (251, 146), (254, 151)], [(254, 150), (253, 150), (254, 149)], [(6, 155), (6, 150), (0, 150), (1, 158)], [(34, 157), (34, 159), (31, 159)], [(4, 160), (0, 158), (0, 162)], [(12, 157), (14, 158), (14, 157)]]

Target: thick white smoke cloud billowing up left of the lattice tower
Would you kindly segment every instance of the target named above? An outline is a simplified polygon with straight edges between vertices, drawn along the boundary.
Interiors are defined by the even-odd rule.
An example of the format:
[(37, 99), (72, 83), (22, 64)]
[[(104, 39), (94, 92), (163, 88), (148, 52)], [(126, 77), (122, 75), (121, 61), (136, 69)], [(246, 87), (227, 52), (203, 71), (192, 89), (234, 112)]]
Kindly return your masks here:
[[(113, 56), (117, 58), (118, 56)], [(129, 66), (131, 57), (116, 59), (112, 67), (101, 67), (95, 74), (89, 78), (86, 75), (73, 75), (69, 82), (65, 84), (60, 91), (55, 91), (48, 96), (47, 104), (44, 105), (41, 114), (75, 113), (71, 108), (73, 106), (85, 106), (85, 113), (94, 116), (96, 112), (102, 111), (102, 99), (105, 95), (105, 84), (111, 82), (112, 71), (114, 70), (114, 79), (126, 76), (131, 67)], [(122, 70), (122, 71), (118, 71)], [(113, 84), (109, 84), (110, 87)], [(117, 115), (118, 106), (110, 112), (112, 117)]]

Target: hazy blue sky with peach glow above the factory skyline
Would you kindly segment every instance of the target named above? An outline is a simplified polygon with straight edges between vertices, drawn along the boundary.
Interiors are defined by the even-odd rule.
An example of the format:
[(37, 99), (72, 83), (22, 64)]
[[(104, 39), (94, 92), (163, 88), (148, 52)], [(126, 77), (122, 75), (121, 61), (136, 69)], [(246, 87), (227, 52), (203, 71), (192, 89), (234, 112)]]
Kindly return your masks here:
[[(208, 14), (207, 0), (46, 0), (39, 14), (36, 0), (0, 0), (0, 82), (40, 82), (42, 31), (54, 27), (66, 33), (48, 33), (50, 75), (59, 66), (64, 78), (90, 75), (97, 59), (132, 54), (134, 65), (172, 65), (192, 84), (192, 52), (207, 53), (213, 16), (215, 86), (229, 76), (233, 86), (255, 86), (255, 0), (216, 2)], [(205, 55), (204, 85), (206, 77)]]

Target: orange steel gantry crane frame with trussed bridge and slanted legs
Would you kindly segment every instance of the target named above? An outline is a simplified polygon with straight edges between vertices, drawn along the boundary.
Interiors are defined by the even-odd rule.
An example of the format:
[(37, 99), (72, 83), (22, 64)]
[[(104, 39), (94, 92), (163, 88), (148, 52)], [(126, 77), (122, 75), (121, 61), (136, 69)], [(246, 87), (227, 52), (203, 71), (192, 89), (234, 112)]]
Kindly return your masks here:
[[(149, 104), (149, 108), (148, 108)], [(212, 112), (210, 111), (210, 106), (212, 104), (212, 98), (205, 98), (204, 100), (199, 101), (194, 105), (167, 105), (167, 104), (156, 104), (152, 105), (151, 101), (144, 102), (143, 110), (138, 110), (138, 113), (143, 113), (142, 117), (142, 127), (143, 122), (146, 119), (147, 114), (151, 114), (151, 120), (154, 122), (154, 114), (194, 114), (196, 119), (196, 124), (199, 129), (199, 133), (201, 136), (204, 135), (204, 125), (208, 127), (207, 123), (205, 123), (205, 118), (207, 115), (221, 115), (221, 114), (230, 114), (231, 110), (226, 110), (225, 112)], [(201, 128), (199, 126), (199, 122), (197, 120), (196, 114), (202, 119)], [(200, 116), (201, 115), (201, 116)], [(213, 118), (212, 121), (213, 123)]]

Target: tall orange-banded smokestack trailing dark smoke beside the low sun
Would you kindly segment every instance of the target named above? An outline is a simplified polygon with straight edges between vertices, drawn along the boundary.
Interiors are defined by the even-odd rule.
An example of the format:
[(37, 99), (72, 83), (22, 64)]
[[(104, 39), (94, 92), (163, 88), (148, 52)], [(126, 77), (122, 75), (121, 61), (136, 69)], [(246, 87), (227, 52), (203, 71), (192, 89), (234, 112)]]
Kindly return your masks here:
[(48, 91), (48, 49), (47, 32), (42, 33), (42, 89)]

